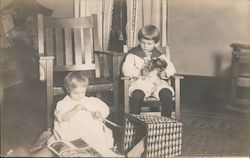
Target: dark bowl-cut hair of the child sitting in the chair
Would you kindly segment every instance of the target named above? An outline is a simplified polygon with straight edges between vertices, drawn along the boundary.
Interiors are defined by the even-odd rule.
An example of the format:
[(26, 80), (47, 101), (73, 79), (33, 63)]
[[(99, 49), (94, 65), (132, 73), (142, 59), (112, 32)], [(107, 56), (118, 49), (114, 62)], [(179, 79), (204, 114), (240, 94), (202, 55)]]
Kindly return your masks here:
[(138, 32), (138, 40), (141, 39), (154, 40), (155, 43), (160, 41), (160, 32), (154, 25), (145, 25)]

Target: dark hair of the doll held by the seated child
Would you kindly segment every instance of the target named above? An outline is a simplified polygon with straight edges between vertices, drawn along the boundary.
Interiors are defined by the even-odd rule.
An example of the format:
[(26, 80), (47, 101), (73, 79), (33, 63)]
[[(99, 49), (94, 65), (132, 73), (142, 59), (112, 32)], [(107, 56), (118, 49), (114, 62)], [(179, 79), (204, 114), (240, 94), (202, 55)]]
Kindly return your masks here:
[(161, 58), (151, 59), (148, 64), (148, 69), (152, 70), (159, 70), (160, 72), (166, 69), (168, 66), (167, 62)]

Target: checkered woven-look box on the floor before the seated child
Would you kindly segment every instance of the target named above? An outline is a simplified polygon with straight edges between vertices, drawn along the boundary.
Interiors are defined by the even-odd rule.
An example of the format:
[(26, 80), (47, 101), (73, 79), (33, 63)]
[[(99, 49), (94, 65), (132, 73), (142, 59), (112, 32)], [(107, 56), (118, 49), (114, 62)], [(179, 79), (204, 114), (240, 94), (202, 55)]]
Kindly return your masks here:
[(143, 157), (172, 157), (181, 154), (182, 123), (167, 117), (126, 114), (120, 150), (127, 155), (144, 137)]

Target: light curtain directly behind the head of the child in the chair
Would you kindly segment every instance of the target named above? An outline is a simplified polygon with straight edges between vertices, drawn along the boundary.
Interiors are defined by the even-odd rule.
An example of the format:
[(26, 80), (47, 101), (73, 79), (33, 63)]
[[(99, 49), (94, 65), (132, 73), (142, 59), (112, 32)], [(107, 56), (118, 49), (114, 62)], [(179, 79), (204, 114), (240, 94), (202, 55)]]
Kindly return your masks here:
[(127, 45), (138, 44), (137, 33), (147, 24), (153, 24), (161, 32), (159, 45), (166, 46), (168, 0), (126, 0), (127, 2)]

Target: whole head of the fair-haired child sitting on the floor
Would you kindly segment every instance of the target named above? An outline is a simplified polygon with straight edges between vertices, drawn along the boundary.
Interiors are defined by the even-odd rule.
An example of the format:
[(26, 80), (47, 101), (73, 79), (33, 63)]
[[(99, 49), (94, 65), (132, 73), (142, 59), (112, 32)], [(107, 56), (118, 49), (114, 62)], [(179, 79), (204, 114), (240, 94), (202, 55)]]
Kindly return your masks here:
[(85, 97), (89, 85), (88, 78), (81, 71), (70, 72), (64, 79), (64, 87), (73, 100)]

